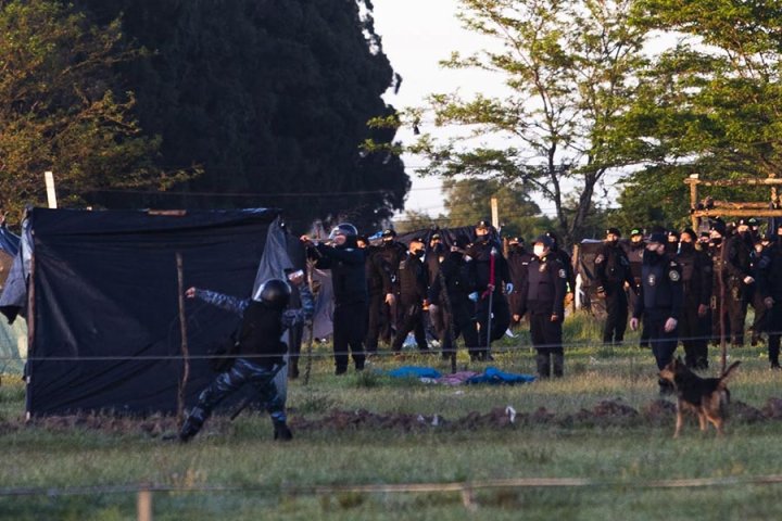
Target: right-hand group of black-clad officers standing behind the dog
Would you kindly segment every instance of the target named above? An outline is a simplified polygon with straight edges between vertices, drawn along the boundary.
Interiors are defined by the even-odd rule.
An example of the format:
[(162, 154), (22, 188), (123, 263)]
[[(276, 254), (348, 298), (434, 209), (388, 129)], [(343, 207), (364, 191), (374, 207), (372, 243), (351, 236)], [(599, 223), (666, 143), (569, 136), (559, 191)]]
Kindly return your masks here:
[(623, 341), (630, 313), (632, 328), (643, 318), (641, 345), (653, 348), (659, 368), (681, 341), (686, 365), (706, 369), (709, 341), (718, 344), (724, 334), (732, 346), (744, 344), (752, 305), (752, 344), (768, 334), (770, 366), (780, 369), (782, 225), (766, 233), (755, 218), (709, 225), (699, 234), (655, 229), (647, 239), (633, 229), (630, 241), (620, 241), (617, 228), (606, 230), (595, 257), (597, 295), (607, 312), (603, 342)]

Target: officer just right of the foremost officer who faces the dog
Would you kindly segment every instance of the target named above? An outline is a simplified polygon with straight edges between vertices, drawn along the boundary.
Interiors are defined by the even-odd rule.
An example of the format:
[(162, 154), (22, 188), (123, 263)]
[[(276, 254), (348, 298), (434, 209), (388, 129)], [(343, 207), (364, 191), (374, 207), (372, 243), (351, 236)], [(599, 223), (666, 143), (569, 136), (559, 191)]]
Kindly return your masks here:
[(691, 369), (708, 368), (708, 310), (711, 301), (711, 257), (696, 243), (696, 234), (680, 234), (677, 262), (682, 270), (684, 304), (679, 336), (684, 346), (684, 364)]

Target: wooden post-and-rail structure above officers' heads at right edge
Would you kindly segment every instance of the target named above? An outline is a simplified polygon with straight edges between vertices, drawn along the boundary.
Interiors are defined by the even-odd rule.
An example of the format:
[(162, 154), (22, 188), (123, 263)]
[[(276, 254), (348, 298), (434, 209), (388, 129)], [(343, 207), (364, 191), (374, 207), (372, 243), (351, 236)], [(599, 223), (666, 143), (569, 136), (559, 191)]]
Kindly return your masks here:
[[(780, 200), (777, 187), (782, 186), (782, 179), (768, 177), (766, 179), (722, 179), (706, 181), (698, 178), (697, 174), (684, 179), (690, 185), (690, 216), (693, 229), (698, 229), (699, 219), (703, 217), (778, 217), (782, 218), (782, 201)], [(770, 198), (766, 202), (730, 203), (727, 201), (711, 201), (708, 207), (698, 207), (698, 186), (703, 187), (769, 187)], [(701, 204), (703, 206), (703, 204)]]

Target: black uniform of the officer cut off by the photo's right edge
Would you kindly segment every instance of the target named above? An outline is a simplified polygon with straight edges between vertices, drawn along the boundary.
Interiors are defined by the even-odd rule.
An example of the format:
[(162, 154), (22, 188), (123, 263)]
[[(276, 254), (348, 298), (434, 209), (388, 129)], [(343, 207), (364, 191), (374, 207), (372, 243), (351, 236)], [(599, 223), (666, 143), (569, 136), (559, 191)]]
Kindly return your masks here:
[[(780, 369), (779, 353), (782, 338), (782, 242), (764, 250), (756, 269), (757, 289), (767, 308), (766, 331), (768, 332), (769, 363), (771, 369)], [(769, 308), (769, 304), (771, 307)]]

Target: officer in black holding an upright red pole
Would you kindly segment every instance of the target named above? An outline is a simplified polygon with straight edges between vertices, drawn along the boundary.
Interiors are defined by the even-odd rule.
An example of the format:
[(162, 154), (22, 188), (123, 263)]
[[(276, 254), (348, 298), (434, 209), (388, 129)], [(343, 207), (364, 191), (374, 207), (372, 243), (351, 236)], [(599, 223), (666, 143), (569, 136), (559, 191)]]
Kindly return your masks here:
[[(476, 305), (476, 319), (479, 325), (479, 348), (471, 353), (474, 360), (491, 359), (489, 345), (487, 344), (487, 329), (489, 328), (489, 316), (491, 314), (491, 340), (497, 340), (505, 334), (510, 325), (510, 309), (508, 308), (505, 291), (510, 282), (507, 262), (502, 254), (502, 246), (491, 238), (492, 226), (487, 220), (481, 220), (476, 226), (476, 240), (467, 246), (467, 257), (476, 263), (475, 272), (477, 279), (476, 289), (480, 298)], [(494, 257), (494, 260), (492, 260)], [(494, 263), (494, 283), (491, 281), (491, 265)], [(491, 294), (491, 298), (490, 295)], [(491, 309), (489, 303), (491, 301)]]

